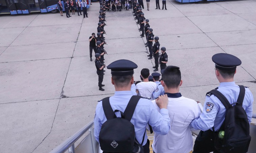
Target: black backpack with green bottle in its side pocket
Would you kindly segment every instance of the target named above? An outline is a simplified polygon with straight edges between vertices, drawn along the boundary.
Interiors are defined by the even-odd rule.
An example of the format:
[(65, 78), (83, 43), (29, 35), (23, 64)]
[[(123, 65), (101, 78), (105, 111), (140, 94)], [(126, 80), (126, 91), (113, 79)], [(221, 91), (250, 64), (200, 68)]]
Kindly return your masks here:
[[(237, 102), (230, 104), (228, 99), (216, 89), (207, 93), (220, 99), (225, 106), (226, 115), (223, 124), (218, 131), (214, 131), (214, 146), (220, 153), (246, 153), (251, 141), (250, 124), (247, 114), (242, 107), (245, 95), (245, 88), (239, 85), (240, 93)], [(236, 104), (236, 105), (234, 105)], [(219, 133), (224, 131), (224, 137), (219, 136)]]

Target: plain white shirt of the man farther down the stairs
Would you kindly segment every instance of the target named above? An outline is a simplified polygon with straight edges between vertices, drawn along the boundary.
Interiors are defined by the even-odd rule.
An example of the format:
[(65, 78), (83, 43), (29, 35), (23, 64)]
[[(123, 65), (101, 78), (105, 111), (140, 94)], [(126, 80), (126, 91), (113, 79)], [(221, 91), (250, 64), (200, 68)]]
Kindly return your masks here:
[(140, 82), (136, 85), (136, 89), (139, 91), (139, 96), (153, 100), (152, 93), (157, 89), (157, 85), (151, 81)]

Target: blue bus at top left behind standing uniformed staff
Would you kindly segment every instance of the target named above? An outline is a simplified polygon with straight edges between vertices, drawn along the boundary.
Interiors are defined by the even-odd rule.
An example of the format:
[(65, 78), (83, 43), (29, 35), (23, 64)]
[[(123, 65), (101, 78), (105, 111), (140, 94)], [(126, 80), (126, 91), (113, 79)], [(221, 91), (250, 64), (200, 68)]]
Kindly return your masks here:
[[(74, 2), (77, 0), (74, 0)], [(90, 7), (91, 0), (87, 1), (87, 9)], [(29, 14), (32, 12), (51, 12), (57, 13), (58, 8), (58, 0), (0, 0), (0, 14)], [(64, 2), (61, 1), (63, 10)], [(76, 4), (74, 4), (76, 5)], [(76, 6), (75, 6), (76, 9)], [(81, 9), (82, 10), (82, 9)]]

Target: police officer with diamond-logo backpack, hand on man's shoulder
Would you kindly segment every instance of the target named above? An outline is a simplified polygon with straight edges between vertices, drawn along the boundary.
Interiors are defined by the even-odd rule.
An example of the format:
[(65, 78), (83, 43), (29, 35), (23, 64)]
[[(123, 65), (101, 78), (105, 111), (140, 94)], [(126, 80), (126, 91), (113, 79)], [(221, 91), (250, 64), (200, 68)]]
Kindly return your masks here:
[[(138, 66), (129, 60), (117, 60), (108, 65), (107, 69), (111, 69), (111, 82), (115, 86), (115, 94), (109, 98), (112, 109), (124, 112), (130, 98), (132, 97), (131, 86), (133, 84), (133, 73)], [(150, 124), (154, 132), (165, 135), (170, 130), (170, 118), (168, 114), (166, 95), (160, 96), (156, 100), (156, 104), (160, 108), (159, 113), (153, 106), (153, 103), (147, 98), (140, 98), (133, 113), (131, 123), (135, 128), (136, 139), (144, 148), (144, 153), (149, 153), (148, 136), (145, 134), (147, 124)], [(117, 117), (120, 117), (117, 114)], [(102, 124), (106, 121), (103, 111), (102, 101), (97, 104), (94, 117), (94, 136), (99, 142), (99, 134)], [(113, 125), (115, 126), (115, 125)], [(125, 131), (124, 131), (125, 132)], [(143, 138), (143, 135), (144, 138)], [(142, 139), (144, 141), (142, 142)]]

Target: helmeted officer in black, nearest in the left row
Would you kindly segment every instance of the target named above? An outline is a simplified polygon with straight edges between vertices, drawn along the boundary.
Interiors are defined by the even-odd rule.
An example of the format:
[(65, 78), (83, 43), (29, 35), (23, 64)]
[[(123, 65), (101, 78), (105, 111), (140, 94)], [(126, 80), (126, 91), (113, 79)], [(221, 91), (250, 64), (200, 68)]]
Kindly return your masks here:
[(103, 81), (103, 76), (104, 76), (104, 68), (105, 68), (105, 65), (103, 63), (100, 62), (100, 54), (99, 53), (96, 53), (95, 54), (95, 66), (96, 66), (96, 69), (97, 69), (97, 75), (99, 77), (99, 90), (100, 91), (104, 91), (105, 89), (103, 89), (102, 87), (105, 86), (105, 84), (102, 84), (102, 81)]

